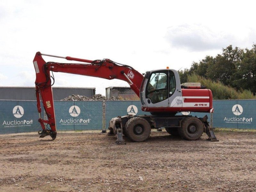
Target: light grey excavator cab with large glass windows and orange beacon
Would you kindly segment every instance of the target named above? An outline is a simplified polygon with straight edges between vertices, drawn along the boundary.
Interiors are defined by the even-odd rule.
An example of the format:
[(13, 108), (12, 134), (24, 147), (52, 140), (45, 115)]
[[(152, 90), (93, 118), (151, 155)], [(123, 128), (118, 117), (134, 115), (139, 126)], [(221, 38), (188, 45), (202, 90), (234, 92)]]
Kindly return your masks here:
[(181, 97), (180, 78), (176, 70), (162, 69), (146, 73), (140, 87), (143, 107), (171, 107), (172, 101)]

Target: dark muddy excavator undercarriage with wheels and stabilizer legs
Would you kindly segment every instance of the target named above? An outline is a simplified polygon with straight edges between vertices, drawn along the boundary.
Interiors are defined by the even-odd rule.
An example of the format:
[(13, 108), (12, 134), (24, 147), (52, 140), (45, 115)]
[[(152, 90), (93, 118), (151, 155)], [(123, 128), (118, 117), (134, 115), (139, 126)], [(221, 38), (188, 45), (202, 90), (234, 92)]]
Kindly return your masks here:
[(208, 135), (207, 140), (219, 141), (207, 119), (207, 115), (203, 118), (193, 116), (118, 116), (110, 120), (108, 135), (117, 135), (117, 144), (125, 144), (123, 135), (132, 141), (140, 142), (149, 137), (152, 128), (164, 127), (168, 133), (179, 135), (187, 140), (197, 140), (205, 132)]

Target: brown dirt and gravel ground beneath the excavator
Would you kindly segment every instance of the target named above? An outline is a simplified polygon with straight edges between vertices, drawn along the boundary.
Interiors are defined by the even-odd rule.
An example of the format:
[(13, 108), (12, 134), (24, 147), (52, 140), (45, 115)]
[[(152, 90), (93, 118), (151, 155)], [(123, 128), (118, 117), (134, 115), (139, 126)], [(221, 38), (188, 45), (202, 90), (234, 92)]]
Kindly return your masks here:
[(126, 145), (99, 131), (0, 135), (0, 191), (256, 191), (256, 132), (215, 134)]

